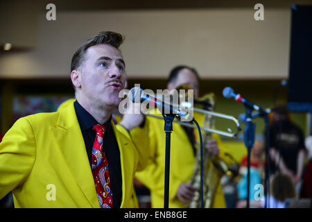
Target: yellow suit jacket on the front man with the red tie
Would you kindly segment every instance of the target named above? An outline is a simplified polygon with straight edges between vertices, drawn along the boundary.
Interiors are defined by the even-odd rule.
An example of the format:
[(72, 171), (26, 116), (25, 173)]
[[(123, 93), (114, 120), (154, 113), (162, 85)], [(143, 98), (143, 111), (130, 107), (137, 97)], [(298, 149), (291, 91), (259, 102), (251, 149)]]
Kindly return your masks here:
[[(121, 207), (136, 207), (139, 151), (122, 126), (114, 126), (122, 175)], [(100, 207), (73, 102), (59, 112), (23, 117), (0, 143), (0, 198), (12, 191), (15, 207)]]

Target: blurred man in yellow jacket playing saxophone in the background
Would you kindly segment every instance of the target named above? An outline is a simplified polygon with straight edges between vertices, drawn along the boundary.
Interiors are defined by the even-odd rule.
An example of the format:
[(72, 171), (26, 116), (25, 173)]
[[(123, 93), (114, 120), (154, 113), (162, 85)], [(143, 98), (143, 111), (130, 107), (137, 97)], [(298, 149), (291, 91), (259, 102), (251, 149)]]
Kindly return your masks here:
[[(182, 84), (189, 84), (194, 89), (194, 96), (198, 96), (199, 77), (195, 69), (187, 66), (175, 67), (168, 80), (168, 89), (175, 89)], [(161, 116), (161, 115), (160, 115)], [(161, 116), (162, 117), (162, 116)], [(194, 118), (201, 123), (202, 116)], [(194, 131), (196, 132), (196, 130)], [(132, 141), (137, 146), (150, 148), (148, 167), (144, 171), (136, 173), (136, 177), (150, 189), (152, 207), (164, 207), (164, 167), (165, 167), (165, 147), (166, 134), (164, 133), (164, 120), (154, 117), (146, 117), (144, 128), (134, 128), (130, 131)], [(195, 133), (198, 140), (198, 133)], [(173, 133), (171, 133), (171, 162), (169, 179), (169, 207), (185, 207), (187, 200), (193, 198), (195, 187), (189, 184), (193, 174), (196, 151), (198, 146), (193, 146), (196, 142), (191, 141), (192, 136), (188, 136), (187, 129), (180, 124), (173, 123)], [(197, 142), (199, 144), (199, 142)], [(226, 163), (231, 162), (227, 154), (229, 148), (224, 146), (218, 135), (213, 135), (213, 139), (207, 142), (211, 155), (218, 155)], [(226, 207), (225, 198), (220, 183), (216, 189), (216, 194), (212, 207)]]

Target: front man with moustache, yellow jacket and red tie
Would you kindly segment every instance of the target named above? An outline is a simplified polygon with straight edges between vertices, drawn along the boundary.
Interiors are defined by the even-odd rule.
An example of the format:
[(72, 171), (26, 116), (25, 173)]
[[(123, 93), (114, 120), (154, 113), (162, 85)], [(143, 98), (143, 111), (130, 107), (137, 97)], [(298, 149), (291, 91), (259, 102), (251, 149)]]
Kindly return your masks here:
[[(137, 206), (133, 178), (146, 165), (141, 160), (148, 147), (137, 148), (128, 131), (112, 122), (125, 86), (125, 62), (118, 49), (122, 42), (122, 35), (113, 32), (87, 40), (71, 61), (76, 101), (58, 112), (23, 117), (8, 130), (0, 143), (0, 198), (12, 191), (15, 207)], [(104, 153), (107, 157), (105, 185), (101, 170), (93, 170), (92, 144), (101, 142), (94, 130), (98, 125), (105, 128), (103, 153), (96, 155), (102, 159), (96, 164), (105, 163)], [(105, 189), (99, 192), (101, 186)], [(112, 205), (103, 205), (111, 194)]]

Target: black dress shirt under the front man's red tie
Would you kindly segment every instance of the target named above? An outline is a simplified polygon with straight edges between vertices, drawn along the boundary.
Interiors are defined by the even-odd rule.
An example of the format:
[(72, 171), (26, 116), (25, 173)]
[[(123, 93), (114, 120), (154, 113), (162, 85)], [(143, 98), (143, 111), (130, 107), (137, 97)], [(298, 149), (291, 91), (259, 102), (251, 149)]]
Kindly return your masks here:
[[(92, 167), (92, 146), (94, 144), (94, 139), (96, 138), (96, 131), (92, 128), (94, 125), (99, 123), (78, 103), (78, 101), (75, 101), (74, 107), (81, 132), (83, 133), (83, 139), (85, 140), (85, 147), (87, 149), (89, 164), (90, 167)], [(121, 205), (122, 196), (121, 162), (119, 146), (114, 135), (114, 130), (112, 129), (111, 119), (112, 118), (101, 124), (105, 126), (105, 133), (103, 136), (103, 151), (105, 153), (110, 172), (113, 207), (118, 208)]]

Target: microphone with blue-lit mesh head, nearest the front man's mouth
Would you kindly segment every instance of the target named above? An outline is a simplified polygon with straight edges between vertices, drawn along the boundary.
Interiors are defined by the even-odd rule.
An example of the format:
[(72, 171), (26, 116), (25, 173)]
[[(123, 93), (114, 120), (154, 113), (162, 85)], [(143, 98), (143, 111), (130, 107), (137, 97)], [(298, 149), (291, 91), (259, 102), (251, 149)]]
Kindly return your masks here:
[[(170, 105), (168, 103), (164, 103), (163, 101), (157, 100), (157, 98), (154, 98), (153, 96), (150, 96), (149, 94), (145, 94), (143, 92), (143, 89), (139, 87), (133, 87), (130, 89), (130, 92), (128, 94), (130, 100), (132, 103), (135, 103), (137, 101), (144, 102), (148, 101), (150, 105), (153, 105), (153, 107), (157, 108), (160, 112), (163, 114), (175, 114), (178, 117), (187, 117), (187, 112), (180, 110), (179, 108), (174, 107), (173, 105)], [(168, 110), (169, 113), (164, 113), (164, 110)]]

